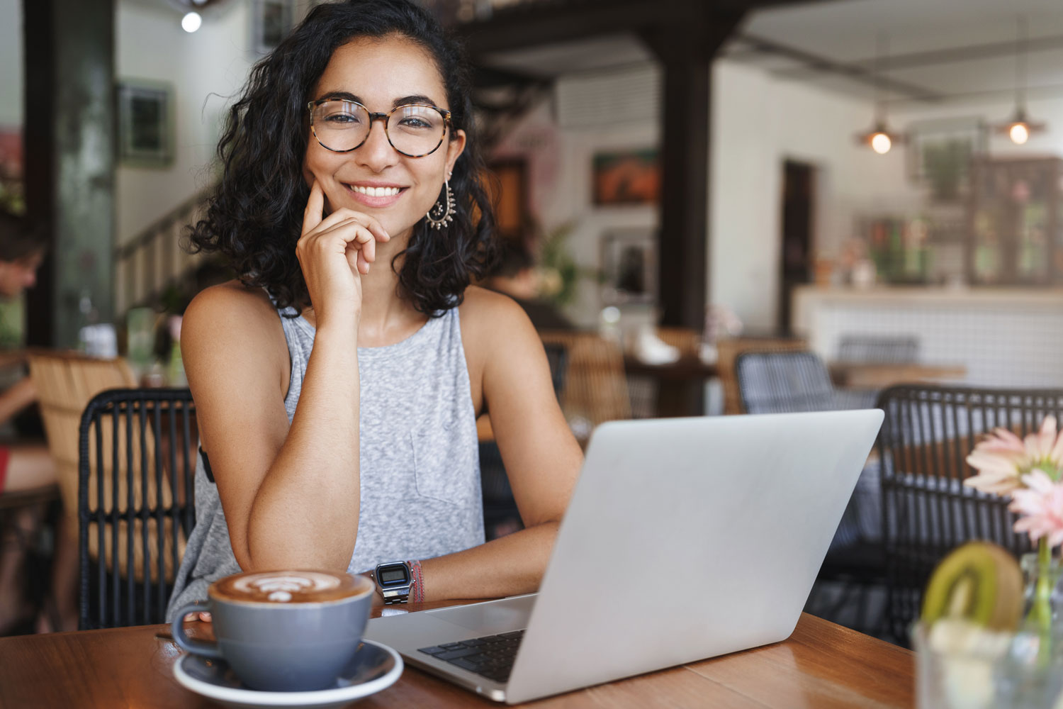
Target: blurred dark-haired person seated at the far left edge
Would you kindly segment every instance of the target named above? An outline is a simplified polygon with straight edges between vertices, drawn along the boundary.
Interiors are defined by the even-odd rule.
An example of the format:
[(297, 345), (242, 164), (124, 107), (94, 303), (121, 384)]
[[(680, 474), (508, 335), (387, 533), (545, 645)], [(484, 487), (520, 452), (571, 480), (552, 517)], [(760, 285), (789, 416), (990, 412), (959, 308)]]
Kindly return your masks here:
[[(21, 217), (0, 212), (0, 299), (19, 298), (37, 283), (37, 269), (47, 251), (44, 237)], [(36, 402), (37, 392), (26, 374), (26, 353), (0, 352), (0, 370), (19, 368), (14, 384), (0, 393), (0, 426)], [(43, 488), (56, 483), (55, 462), (44, 443), (0, 444), (0, 494)], [(30, 604), (26, 598), (24, 562), (27, 547), (36, 535), (40, 510), (36, 507), (15, 508), (6, 516), (0, 534), (0, 635), (6, 635), (27, 620)], [(56, 612), (52, 618), (41, 614), (37, 630), (74, 630), (78, 609), (74, 590), (78, 554), (73, 537), (61, 528), (55, 536), (55, 559), (52, 574)], [(54, 625), (58, 627), (53, 627)]]

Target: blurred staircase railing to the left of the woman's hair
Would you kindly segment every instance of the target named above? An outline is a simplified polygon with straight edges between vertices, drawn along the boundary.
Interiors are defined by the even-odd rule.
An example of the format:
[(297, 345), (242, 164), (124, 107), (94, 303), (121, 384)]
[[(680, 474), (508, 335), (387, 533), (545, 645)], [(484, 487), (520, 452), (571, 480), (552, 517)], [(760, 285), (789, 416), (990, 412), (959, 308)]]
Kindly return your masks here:
[(115, 313), (157, 306), (172, 285), (191, 277), (202, 254), (182, 247), (187, 226), (206, 210), (210, 186), (185, 200), (129, 241), (115, 248)]

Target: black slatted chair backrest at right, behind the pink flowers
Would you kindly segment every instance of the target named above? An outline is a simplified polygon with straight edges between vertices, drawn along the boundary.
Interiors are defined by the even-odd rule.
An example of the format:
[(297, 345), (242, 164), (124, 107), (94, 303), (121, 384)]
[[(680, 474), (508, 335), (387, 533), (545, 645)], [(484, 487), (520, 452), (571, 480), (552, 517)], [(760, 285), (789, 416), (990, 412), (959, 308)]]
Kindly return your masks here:
[(1012, 527), (1007, 497), (963, 485), (976, 474), (965, 461), (979, 437), (996, 427), (1019, 436), (1045, 416), (1063, 418), (1063, 389), (971, 389), (901, 385), (883, 391), (881, 460), (882, 540), (887, 623), (898, 638), (919, 612), (923, 589), (938, 561), (971, 539), (1013, 554), (1031, 550)]

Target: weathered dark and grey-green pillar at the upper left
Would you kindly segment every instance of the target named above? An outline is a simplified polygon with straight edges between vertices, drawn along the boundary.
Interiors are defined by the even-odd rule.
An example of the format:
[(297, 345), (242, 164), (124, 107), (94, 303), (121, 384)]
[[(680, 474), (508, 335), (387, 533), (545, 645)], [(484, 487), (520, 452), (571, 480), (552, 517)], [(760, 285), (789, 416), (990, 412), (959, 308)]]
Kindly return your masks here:
[(26, 191), (50, 251), (29, 291), (27, 340), (73, 347), (87, 297), (113, 311), (114, 0), (23, 0)]

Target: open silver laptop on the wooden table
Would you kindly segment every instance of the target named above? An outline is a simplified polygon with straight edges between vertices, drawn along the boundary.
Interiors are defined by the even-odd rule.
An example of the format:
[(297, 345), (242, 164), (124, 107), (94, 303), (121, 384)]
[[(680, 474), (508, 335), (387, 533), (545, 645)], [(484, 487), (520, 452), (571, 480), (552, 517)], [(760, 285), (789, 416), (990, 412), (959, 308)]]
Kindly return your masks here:
[(603, 424), (538, 593), (386, 615), (366, 637), (510, 704), (784, 640), (881, 423)]

